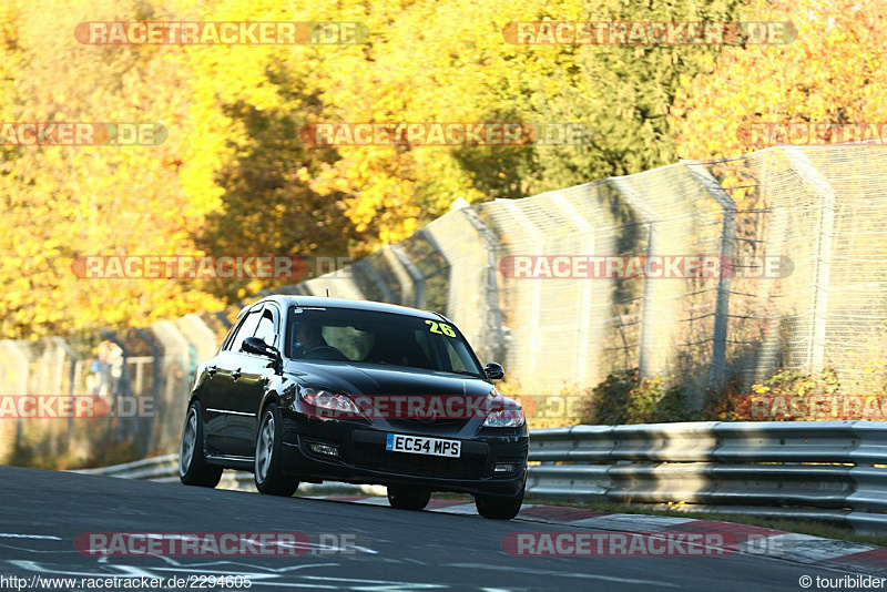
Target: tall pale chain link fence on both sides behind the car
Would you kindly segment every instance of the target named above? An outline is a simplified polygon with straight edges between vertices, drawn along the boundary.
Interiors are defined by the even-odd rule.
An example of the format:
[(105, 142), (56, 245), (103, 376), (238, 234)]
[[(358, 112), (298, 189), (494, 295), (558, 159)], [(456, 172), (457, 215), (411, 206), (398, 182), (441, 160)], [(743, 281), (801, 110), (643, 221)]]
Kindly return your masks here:
[[(782, 368), (834, 368), (845, 392), (883, 391), (885, 188), (887, 151), (877, 145), (682, 161), (455, 208), (347, 268), (275, 292), (438, 310), (524, 394), (577, 392), (633, 368), (679, 384), (696, 409), (708, 388), (747, 388)], [(532, 267), (656, 256), (717, 258), (721, 267), (683, 277), (516, 273), (518, 259)], [(101, 430), (93, 421), (79, 431), (80, 419), (3, 419), (0, 443), (20, 449), (30, 432), (50, 449), (126, 440), (140, 456), (174, 450), (194, 368), (230, 321), (188, 315), (93, 341), (0, 340), (3, 395), (90, 392), (105, 340), (123, 359), (103, 394), (110, 405), (119, 395), (154, 402), (152, 417), (109, 414)]]

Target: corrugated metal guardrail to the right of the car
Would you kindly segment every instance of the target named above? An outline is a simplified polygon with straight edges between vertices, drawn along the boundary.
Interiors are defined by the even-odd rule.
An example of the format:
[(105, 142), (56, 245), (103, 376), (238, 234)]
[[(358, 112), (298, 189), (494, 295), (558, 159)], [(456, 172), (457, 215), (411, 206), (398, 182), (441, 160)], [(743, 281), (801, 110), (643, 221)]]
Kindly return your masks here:
[(887, 422), (534, 430), (528, 496), (805, 518), (887, 533)]

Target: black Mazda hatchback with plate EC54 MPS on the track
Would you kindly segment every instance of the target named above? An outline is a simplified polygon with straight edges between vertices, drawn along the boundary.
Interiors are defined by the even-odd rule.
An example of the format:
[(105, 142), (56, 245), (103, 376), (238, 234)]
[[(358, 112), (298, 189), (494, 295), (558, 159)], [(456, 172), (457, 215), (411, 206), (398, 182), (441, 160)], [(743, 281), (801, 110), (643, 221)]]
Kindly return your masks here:
[(383, 484), (395, 508), (471, 493), (511, 519), (527, 482), (523, 410), (437, 313), (360, 300), (271, 296), (244, 308), (197, 368), (179, 476), (215, 487), (245, 469), (258, 490), (299, 482)]

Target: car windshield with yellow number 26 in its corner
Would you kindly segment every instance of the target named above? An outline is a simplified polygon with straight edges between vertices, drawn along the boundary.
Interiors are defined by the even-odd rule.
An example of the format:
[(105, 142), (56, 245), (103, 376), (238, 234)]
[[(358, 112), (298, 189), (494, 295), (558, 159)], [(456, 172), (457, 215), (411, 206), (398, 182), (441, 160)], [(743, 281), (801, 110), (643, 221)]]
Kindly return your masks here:
[(374, 310), (292, 307), (286, 355), (483, 376), (453, 325)]

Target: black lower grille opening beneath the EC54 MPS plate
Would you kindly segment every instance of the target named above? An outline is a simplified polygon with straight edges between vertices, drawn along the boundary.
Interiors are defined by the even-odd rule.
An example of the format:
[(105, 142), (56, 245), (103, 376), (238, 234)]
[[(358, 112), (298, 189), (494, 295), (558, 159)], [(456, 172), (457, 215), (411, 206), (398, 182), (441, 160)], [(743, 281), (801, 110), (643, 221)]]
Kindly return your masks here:
[(479, 479), (487, 460), (486, 456), (478, 455), (447, 458), (391, 452), (371, 445), (356, 446), (355, 457), (355, 465), (361, 469), (440, 479)]

